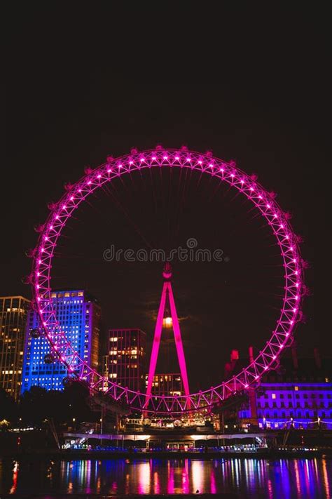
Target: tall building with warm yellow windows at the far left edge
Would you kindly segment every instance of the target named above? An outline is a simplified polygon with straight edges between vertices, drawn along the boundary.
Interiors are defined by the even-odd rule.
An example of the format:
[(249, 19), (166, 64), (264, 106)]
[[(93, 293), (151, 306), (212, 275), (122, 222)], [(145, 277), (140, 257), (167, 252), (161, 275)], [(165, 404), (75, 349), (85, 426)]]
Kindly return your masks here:
[(0, 296), (0, 387), (20, 396), (27, 311), (23, 296)]

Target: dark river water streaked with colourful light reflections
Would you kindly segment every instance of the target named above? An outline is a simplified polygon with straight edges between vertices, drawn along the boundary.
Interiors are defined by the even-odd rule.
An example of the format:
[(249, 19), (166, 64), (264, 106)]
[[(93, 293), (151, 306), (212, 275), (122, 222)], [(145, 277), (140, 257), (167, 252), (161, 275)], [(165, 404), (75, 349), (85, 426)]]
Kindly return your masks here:
[(329, 498), (331, 481), (332, 461), (318, 458), (0, 460), (0, 495), (199, 491), (233, 492), (249, 498)]

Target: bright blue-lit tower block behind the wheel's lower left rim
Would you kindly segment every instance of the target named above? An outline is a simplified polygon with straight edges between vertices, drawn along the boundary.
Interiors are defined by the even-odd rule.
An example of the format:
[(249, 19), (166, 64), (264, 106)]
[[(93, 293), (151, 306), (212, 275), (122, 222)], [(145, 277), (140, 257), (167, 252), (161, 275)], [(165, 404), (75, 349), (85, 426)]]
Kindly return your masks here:
[[(99, 332), (101, 308), (95, 298), (84, 290), (54, 291), (53, 307), (62, 330), (76, 352), (89, 366), (99, 366)], [(39, 327), (39, 317), (29, 312), (25, 336), (25, 356), (22, 371), (22, 393), (32, 386), (46, 390), (62, 390), (67, 370), (60, 361), (47, 364), (50, 344), (44, 336), (32, 338), (32, 330)]]

